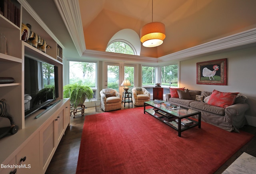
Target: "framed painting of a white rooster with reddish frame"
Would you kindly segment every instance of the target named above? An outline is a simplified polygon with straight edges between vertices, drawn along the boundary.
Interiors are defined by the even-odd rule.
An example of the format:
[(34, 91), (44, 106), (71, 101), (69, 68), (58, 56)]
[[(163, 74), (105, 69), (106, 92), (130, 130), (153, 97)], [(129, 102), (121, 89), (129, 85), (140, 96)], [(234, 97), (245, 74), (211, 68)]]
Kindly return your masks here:
[(227, 59), (196, 63), (196, 84), (227, 85)]

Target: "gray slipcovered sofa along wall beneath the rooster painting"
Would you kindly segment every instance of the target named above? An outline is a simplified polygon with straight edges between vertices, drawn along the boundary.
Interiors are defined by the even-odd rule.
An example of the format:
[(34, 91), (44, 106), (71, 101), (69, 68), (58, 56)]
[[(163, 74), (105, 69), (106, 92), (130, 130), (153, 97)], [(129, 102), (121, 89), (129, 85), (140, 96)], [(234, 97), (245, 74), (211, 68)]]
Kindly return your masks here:
[[(233, 105), (226, 108), (221, 108), (207, 104), (204, 101), (196, 101), (197, 95), (206, 98), (207, 96), (210, 96), (212, 92), (198, 90), (188, 90), (188, 92), (191, 96), (191, 100), (172, 98), (170, 94), (166, 94), (166, 100), (167, 102), (185, 108), (200, 111), (202, 121), (214, 126), (218, 126), (219, 128), (229, 132), (239, 132), (239, 128), (242, 128), (245, 124), (247, 124), (244, 113), (249, 109), (249, 105), (245, 103), (243, 96), (238, 95)], [(198, 118), (198, 116), (194, 117)]]

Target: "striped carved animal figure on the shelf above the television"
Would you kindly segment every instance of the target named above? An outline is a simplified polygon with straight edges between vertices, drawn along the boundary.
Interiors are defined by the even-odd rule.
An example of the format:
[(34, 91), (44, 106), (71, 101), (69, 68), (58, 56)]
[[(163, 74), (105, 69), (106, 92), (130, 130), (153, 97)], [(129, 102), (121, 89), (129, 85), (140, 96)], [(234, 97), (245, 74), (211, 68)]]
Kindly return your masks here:
[(46, 48), (52, 48), (50, 45), (46, 44), (46, 41), (38, 36), (36, 33), (32, 32), (32, 26), (30, 24), (23, 24), (21, 26), (21, 40), (27, 42), (28, 44), (34, 46), (38, 50), (46, 53)]

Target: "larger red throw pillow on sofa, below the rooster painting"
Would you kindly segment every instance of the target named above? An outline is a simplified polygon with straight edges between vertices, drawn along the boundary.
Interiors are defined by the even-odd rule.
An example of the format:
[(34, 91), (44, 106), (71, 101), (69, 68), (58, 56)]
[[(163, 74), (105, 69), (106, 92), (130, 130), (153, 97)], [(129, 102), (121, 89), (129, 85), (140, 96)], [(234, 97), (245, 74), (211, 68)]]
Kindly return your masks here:
[(237, 94), (239, 94), (239, 92), (220, 92), (213, 90), (208, 104), (226, 108), (234, 104)]

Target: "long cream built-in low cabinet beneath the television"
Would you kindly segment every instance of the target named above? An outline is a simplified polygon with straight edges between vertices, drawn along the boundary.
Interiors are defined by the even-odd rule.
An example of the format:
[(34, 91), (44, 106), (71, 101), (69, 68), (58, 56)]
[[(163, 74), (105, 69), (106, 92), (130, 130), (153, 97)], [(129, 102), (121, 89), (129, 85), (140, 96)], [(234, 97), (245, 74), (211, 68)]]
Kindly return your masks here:
[[(17, 165), (19, 168), (0, 168), (0, 174), (9, 174), (16, 169), (17, 174), (44, 174), (69, 124), (70, 113), (67, 112), (70, 99), (61, 99), (48, 112), (26, 121), (24, 129), (13, 136), (0, 139), (0, 154), (7, 156), (0, 164)], [(8, 143), (6, 143), (8, 142)]]

